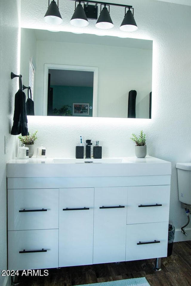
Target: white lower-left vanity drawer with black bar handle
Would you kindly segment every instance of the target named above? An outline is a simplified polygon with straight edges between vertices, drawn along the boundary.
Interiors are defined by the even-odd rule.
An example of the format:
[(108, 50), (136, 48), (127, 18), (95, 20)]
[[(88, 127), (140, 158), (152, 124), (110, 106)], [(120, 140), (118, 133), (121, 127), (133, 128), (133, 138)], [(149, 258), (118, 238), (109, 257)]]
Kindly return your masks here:
[(9, 270), (55, 267), (58, 267), (58, 229), (8, 231)]

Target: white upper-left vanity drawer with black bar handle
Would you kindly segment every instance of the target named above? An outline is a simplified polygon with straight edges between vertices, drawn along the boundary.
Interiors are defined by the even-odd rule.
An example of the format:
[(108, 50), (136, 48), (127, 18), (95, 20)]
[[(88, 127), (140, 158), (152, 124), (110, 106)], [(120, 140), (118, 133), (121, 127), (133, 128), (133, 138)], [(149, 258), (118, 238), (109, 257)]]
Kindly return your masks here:
[(9, 189), (8, 230), (57, 229), (58, 189)]

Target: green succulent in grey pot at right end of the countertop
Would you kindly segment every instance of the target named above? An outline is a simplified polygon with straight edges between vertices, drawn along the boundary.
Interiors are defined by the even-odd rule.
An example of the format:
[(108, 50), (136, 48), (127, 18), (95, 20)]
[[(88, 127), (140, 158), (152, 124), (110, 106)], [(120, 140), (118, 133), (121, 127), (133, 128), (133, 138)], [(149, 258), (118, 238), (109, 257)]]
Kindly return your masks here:
[(146, 135), (143, 130), (140, 131), (139, 136), (132, 134), (131, 139), (135, 142), (135, 155), (137, 158), (144, 158), (147, 155)]

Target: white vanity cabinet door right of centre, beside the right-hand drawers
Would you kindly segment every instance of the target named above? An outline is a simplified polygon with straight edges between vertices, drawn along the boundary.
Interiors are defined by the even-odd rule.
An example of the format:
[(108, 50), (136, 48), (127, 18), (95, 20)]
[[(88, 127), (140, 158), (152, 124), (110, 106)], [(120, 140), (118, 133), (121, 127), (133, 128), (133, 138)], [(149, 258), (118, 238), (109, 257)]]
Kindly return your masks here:
[(125, 261), (127, 187), (95, 188), (93, 263)]

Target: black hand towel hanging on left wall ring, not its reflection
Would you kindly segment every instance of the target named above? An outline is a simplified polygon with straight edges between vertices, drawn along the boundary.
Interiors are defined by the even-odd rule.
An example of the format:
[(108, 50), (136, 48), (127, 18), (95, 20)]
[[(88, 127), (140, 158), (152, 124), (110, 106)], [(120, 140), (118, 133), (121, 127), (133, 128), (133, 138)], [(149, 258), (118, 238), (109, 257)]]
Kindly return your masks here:
[(27, 128), (26, 96), (20, 88), (15, 94), (15, 111), (13, 116), (12, 135), (29, 135)]

